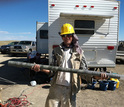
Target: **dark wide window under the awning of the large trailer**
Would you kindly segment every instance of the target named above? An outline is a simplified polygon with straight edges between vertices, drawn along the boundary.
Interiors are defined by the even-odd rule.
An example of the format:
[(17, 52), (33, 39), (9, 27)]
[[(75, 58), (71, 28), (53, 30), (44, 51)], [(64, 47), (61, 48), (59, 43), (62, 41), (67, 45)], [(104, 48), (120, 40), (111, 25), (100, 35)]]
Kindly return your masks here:
[(94, 34), (95, 21), (93, 20), (75, 20), (76, 34)]

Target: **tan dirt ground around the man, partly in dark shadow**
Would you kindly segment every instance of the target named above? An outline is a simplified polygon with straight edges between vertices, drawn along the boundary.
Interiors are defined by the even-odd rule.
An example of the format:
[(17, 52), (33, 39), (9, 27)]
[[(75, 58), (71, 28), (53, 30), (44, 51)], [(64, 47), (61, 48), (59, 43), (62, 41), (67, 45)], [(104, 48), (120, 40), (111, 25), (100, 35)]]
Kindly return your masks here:
[[(0, 54), (0, 100), (5, 103), (7, 99), (26, 95), (29, 107), (44, 107), (50, 84), (29, 85), (28, 70), (8, 66), (7, 62), (25, 61), (26, 57), (10, 57)], [(115, 68), (108, 71), (124, 75), (124, 64), (118, 62)], [(98, 86), (99, 87), (99, 86)], [(120, 81), (118, 89), (101, 91), (99, 88), (82, 89), (77, 94), (77, 107), (123, 107), (124, 81)]]

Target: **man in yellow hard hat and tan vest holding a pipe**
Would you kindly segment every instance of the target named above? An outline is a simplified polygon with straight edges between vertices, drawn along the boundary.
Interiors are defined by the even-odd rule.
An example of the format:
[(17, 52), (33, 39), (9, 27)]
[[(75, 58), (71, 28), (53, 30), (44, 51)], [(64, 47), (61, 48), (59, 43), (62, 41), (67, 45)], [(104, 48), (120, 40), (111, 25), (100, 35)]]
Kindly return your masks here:
[[(75, 35), (71, 24), (63, 24), (60, 32), (63, 42), (53, 50), (52, 64), (64, 68), (87, 69), (83, 51), (78, 45), (78, 38)], [(33, 70), (39, 72), (40, 66), (35, 65)], [(49, 95), (45, 107), (76, 107), (76, 93), (80, 89), (81, 77), (77, 73), (54, 72), (43, 69), (49, 75), (54, 74), (51, 81)], [(106, 75), (101, 75), (106, 78)], [(91, 82), (91, 77), (84, 76)]]

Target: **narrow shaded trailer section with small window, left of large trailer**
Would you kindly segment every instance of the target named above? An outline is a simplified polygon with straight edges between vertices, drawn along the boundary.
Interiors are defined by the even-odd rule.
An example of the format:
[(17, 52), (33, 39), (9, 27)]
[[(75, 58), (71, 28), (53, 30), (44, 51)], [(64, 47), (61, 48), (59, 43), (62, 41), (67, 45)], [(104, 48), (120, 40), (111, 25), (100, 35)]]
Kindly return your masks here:
[(36, 51), (48, 54), (48, 23), (36, 22)]

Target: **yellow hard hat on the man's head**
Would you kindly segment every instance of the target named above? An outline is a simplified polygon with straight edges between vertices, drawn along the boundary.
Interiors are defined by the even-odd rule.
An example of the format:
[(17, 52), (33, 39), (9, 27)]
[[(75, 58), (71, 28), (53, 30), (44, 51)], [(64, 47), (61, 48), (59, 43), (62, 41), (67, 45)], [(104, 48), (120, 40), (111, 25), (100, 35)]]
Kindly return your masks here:
[(69, 24), (69, 23), (63, 24), (63, 26), (61, 27), (60, 35), (73, 34), (73, 33), (75, 33), (75, 31), (71, 24)]

